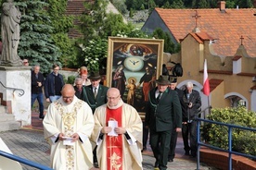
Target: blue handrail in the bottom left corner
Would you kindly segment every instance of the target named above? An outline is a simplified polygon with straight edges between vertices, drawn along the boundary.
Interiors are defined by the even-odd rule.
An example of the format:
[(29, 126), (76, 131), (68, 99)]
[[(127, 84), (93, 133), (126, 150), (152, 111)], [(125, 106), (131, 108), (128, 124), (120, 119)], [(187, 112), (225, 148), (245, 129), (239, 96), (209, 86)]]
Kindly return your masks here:
[(30, 160), (21, 158), (21, 157), (19, 157), (19, 156), (10, 154), (10, 153), (8, 153), (8, 152), (3, 152), (3, 151), (1, 151), (1, 150), (0, 150), (0, 155), (1, 155), (1, 156), (4, 156), (4, 157), (6, 157), (6, 158), (9, 158), (9, 159), (11, 159), (11, 160), (14, 160), (14, 161), (18, 161), (19, 163), (30, 165), (30, 166), (35, 167), (35, 168), (38, 168), (38, 169), (53, 170), (52, 168), (50, 168), (50, 167), (48, 167), (48, 166), (45, 166), (45, 165), (43, 165), (43, 164), (38, 164), (38, 163), (32, 162), (32, 161), (30, 161)]

